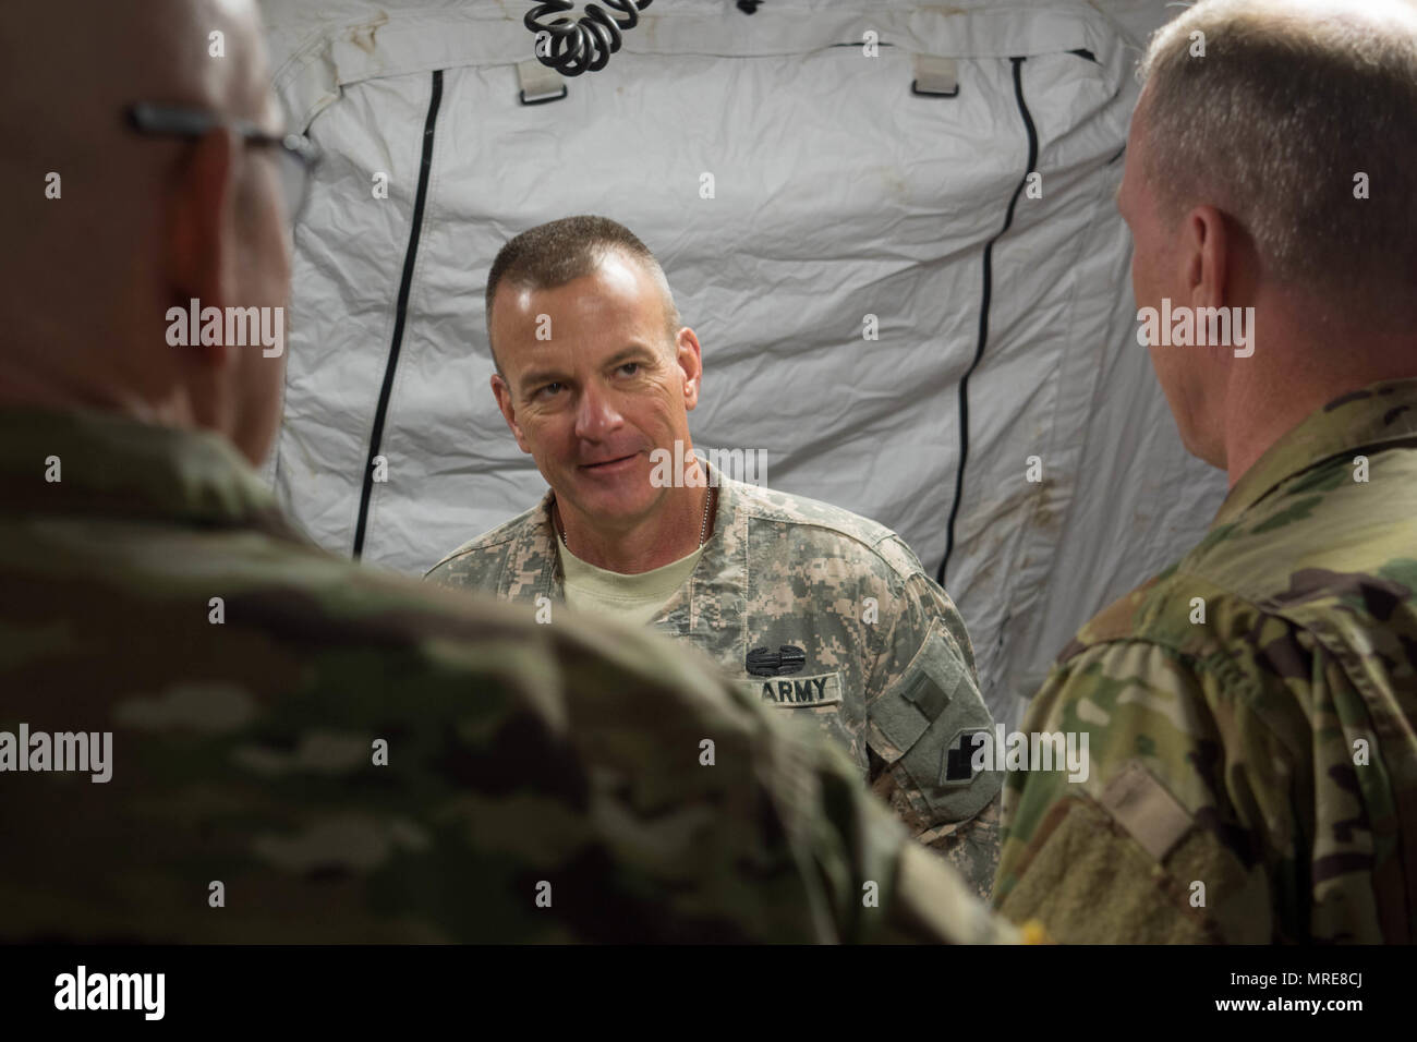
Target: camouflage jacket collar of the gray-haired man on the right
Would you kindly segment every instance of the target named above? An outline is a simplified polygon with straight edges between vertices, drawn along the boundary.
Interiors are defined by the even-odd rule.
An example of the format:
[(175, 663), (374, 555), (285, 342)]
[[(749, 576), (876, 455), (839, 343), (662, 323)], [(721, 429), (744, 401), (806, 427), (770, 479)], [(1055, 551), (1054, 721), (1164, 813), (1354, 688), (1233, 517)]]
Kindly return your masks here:
[(1417, 434), (1417, 380), (1384, 380), (1311, 413), (1244, 472), (1212, 527), (1233, 522), (1289, 478), (1357, 449), (1379, 449)]

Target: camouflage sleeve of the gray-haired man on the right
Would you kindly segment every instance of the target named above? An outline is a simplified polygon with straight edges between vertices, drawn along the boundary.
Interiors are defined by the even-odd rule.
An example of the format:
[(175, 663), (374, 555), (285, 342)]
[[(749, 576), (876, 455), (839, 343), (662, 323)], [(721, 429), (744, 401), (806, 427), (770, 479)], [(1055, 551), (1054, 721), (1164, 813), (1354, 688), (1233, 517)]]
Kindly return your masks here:
[[(1027, 733), (1087, 734), (1090, 764), (1009, 775), (996, 904), (1066, 943), (1380, 941), (1369, 872), (1396, 815), (1370, 828), (1363, 808), (1382, 788), (1349, 749), (1370, 733), (1363, 699), (1308, 632), (1183, 581), (1209, 625), (1144, 587), (1030, 706)], [(1175, 641), (1118, 639), (1146, 605)]]

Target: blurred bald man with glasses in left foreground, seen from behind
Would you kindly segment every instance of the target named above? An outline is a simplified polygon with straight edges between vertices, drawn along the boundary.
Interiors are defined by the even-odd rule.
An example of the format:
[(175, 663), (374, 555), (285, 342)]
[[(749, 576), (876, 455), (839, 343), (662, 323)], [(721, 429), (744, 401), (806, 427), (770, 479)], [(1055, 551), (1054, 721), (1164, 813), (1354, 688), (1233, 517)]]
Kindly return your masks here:
[(290, 532), (248, 468), (282, 352), (173, 344), (191, 301), (286, 299), (259, 54), (247, 0), (0, 28), (0, 937), (1012, 936), (683, 652)]

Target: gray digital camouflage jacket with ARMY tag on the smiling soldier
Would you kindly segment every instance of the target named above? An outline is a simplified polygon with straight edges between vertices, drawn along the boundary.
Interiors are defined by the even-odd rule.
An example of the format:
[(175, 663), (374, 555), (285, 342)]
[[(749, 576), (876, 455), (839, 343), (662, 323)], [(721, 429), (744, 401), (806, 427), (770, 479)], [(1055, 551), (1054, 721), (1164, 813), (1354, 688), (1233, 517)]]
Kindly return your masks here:
[[(548, 492), (428, 578), (533, 610), (546, 597), (565, 614), (551, 503)], [(954, 603), (898, 536), (847, 510), (720, 476), (714, 517), (693, 574), (650, 628), (706, 652), (781, 716), (813, 717), (910, 832), (988, 897), (1002, 778), (971, 770), (969, 736), (993, 720)], [(760, 669), (774, 669), (784, 648), (803, 661), (750, 672), (751, 651), (765, 649)]]

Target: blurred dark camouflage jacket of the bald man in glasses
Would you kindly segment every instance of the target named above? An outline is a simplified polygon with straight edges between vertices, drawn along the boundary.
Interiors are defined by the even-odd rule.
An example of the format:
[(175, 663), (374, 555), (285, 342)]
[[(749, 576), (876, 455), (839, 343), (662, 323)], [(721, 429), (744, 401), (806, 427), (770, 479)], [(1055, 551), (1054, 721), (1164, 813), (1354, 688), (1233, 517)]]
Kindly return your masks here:
[(312, 547), (215, 435), (0, 410), (0, 940), (1013, 936), (829, 743)]

